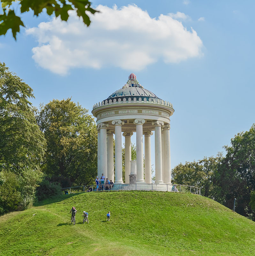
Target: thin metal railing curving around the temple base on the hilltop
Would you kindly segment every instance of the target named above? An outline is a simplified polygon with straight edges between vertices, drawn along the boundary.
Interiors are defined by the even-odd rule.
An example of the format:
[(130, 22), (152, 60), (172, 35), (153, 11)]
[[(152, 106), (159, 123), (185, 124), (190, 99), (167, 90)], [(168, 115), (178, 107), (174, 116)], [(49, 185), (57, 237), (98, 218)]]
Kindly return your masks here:
[[(201, 196), (201, 190), (198, 187), (188, 186), (188, 185), (176, 185), (176, 191), (173, 189), (173, 184), (154, 184), (154, 183), (134, 183), (134, 184), (113, 184), (113, 187), (109, 188), (108, 184), (100, 185), (86, 185), (86, 186), (77, 186), (62, 188), (62, 190), (71, 193), (79, 192), (93, 192), (93, 191), (108, 191), (111, 190), (143, 190), (143, 191), (165, 191), (165, 192), (183, 192), (197, 194)], [(98, 188), (97, 188), (98, 186)]]

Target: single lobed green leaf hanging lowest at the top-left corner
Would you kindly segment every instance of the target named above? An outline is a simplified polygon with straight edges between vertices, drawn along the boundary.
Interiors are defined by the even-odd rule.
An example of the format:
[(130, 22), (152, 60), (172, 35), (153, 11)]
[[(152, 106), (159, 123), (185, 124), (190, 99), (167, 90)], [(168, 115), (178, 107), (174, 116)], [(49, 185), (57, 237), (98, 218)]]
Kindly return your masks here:
[(11, 28), (12, 35), (15, 38), (15, 40), (16, 34), (17, 32), (19, 32), (19, 26), (25, 27), (20, 17), (16, 16), (13, 10), (9, 10), (8, 15), (6, 15), (5, 12), (4, 14), (1, 14), (0, 22), (0, 36), (5, 35), (6, 32)]

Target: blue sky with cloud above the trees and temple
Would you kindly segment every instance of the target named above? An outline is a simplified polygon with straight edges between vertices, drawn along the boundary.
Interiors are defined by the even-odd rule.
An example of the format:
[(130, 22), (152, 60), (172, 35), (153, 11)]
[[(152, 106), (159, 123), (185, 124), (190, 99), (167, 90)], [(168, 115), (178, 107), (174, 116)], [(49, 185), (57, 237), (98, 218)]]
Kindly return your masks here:
[[(62, 52), (56, 49), (58, 41), (54, 38), (59, 36), (56, 31), (59, 24), (54, 25), (52, 18), (45, 14), (38, 18), (33, 17), (31, 12), (22, 15), (30, 30), (22, 28), (17, 41), (11, 37), (10, 31), (6, 36), (0, 36), (0, 61), (32, 87), (34, 106), (52, 99), (72, 97), (91, 113), (94, 103), (120, 89), (133, 72), (146, 89), (173, 104), (175, 113), (171, 117), (170, 130), (172, 168), (180, 162), (215, 156), (218, 151), (223, 151), (223, 145), (230, 144), (236, 133), (250, 129), (255, 120), (255, 2), (186, 0), (133, 3), (95, 0), (92, 3), (94, 7), (103, 5), (100, 8), (108, 10), (109, 16), (97, 14), (102, 16), (95, 19), (94, 27), (90, 28), (75, 27), (77, 21), (73, 18), (70, 21), (73, 27), (68, 26), (78, 29), (75, 41), (70, 39), (72, 35), (68, 31), (65, 36), (62, 34), (59, 37), (61, 42), (65, 42), (65, 47), (71, 50), (77, 48), (76, 57), (71, 52), (69, 59), (66, 59), (68, 53), (65, 48)], [(119, 11), (131, 10), (128, 6), (133, 6), (134, 19), (128, 16), (130, 22), (127, 22), (122, 20), (122, 15), (116, 17), (116, 12), (110, 10), (114, 4), (117, 4)], [(146, 17), (145, 11), (150, 18)], [(131, 15), (130, 12), (123, 13)], [(131, 24), (140, 14), (140, 21), (138, 19), (137, 24)], [(159, 24), (155, 20), (159, 20), (160, 15), (168, 21), (173, 19), (178, 22), (161, 23), (159, 31), (154, 32), (153, 29), (158, 26), (155, 24)], [(112, 23), (102, 24), (102, 17)], [(49, 40), (48, 30), (38, 28), (41, 22), (52, 26)], [(104, 26), (121, 22), (124, 24), (115, 32), (108, 33), (104, 29)], [(63, 25), (64, 28), (66, 26)], [(170, 35), (155, 41), (154, 35), (160, 37), (162, 29), (163, 37), (173, 29), (172, 26), (177, 26), (177, 34), (183, 33), (183, 37), (179, 38), (178, 34), (176, 39)], [(193, 34), (189, 39), (192, 29), (197, 36)], [(87, 37), (93, 37), (98, 44), (89, 44)], [(139, 40), (143, 43), (142, 48)], [(184, 45), (184, 53), (176, 46), (176, 40), (180, 40), (178, 45)], [(107, 49), (104, 42), (111, 42)], [(131, 44), (134, 57), (122, 56), (123, 52), (118, 47), (125, 42)], [(168, 42), (172, 42), (173, 46), (169, 46)], [(47, 44), (56, 52), (52, 50), (51, 55), (44, 54), (41, 46)], [(90, 47), (94, 54), (92, 57), (98, 59), (96, 63), (91, 57), (83, 59), (83, 55), (79, 55), (83, 45)], [(114, 45), (117, 47), (114, 48)], [(35, 47), (36, 58), (35, 51), (32, 52)], [(164, 52), (169, 49), (177, 55), (166, 59)], [(111, 51), (112, 59), (107, 54)], [(139, 55), (141, 52), (143, 54)], [(175, 57), (177, 61), (173, 60)]]

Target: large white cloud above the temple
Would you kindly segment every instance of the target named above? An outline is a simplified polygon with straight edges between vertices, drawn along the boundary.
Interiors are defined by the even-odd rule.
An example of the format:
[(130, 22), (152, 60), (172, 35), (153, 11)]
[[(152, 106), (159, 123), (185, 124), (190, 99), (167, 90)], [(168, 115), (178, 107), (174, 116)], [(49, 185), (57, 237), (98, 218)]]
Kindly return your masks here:
[(96, 9), (100, 13), (91, 15), (88, 28), (71, 11), (68, 22), (54, 18), (27, 29), (38, 41), (32, 49), (34, 61), (64, 75), (76, 67), (137, 71), (160, 59), (175, 63), (202, 55), (196, 31), (187, 30), (171, 15), (151, 18), (136, 5)]

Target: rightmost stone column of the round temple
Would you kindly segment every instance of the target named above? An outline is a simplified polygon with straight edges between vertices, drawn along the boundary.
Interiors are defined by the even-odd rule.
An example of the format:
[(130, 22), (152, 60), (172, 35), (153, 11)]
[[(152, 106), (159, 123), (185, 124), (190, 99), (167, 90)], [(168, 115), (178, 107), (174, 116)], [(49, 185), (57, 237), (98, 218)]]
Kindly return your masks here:
[(164, 124), (164, 182), (171, 184), (170, 124)]

